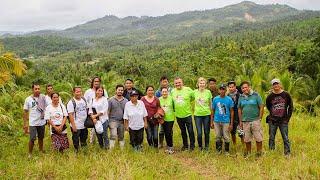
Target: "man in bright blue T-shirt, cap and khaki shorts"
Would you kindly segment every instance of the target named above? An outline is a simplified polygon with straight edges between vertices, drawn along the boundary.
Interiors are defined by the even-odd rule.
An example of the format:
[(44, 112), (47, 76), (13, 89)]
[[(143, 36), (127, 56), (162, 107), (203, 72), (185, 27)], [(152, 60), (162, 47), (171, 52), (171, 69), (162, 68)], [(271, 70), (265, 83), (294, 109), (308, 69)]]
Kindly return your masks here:
[(234, 117), (234, 103), (229, 96), (226, 96), (226, 85), (219, 86), (220, 96), (216, 96), (212, 100), (213, 121), (211, 121), (211, 128), (214, 128), (216, 133), (216, 150), (222, 151), (222, 138), (224, 140), (225, 152), (229, 153), (230, 145), (230, 131), (233, 126)]

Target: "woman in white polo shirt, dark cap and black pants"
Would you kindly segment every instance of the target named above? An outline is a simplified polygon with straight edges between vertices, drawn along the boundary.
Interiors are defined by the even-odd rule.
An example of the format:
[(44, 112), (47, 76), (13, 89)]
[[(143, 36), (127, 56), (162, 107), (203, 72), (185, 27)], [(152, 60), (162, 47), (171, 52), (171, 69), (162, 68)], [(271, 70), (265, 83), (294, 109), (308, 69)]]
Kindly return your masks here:
[(139, 93), (131, 91), (130, 101), (124, 107), (124, 125), (130, 134), (130, 144), (135, 151), (141, 151), (143, 142), (143, 129), (148, 127), (147, 110), (142, 101), (138, 100)]

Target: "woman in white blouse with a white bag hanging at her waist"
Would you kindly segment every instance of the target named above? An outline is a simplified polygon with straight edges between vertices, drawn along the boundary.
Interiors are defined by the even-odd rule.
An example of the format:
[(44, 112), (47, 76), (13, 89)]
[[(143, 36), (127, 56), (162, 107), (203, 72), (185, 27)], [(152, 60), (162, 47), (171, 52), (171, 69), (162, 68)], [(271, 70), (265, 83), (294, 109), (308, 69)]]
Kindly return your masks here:
[[(108, 149), (109, 147), (109, 138), (108, 138), (108, 99), (104, 96), (104, 89), (102, 86), (96, 89), (95, 98), (89, 102), (89, 114), (95, 124), (95, 132), (98, 138), (98, 142), (101, 148)], [(96, 129), (97, 123), (101, 123), (103, 127), (103, 132)]]

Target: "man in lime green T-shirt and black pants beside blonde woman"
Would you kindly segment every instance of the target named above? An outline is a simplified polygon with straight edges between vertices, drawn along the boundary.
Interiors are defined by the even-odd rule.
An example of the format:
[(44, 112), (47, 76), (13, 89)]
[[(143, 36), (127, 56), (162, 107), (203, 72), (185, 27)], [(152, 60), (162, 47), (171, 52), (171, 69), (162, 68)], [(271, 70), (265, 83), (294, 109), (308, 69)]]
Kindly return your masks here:
[(193, 91), (189, 87), (183, 86), (183, 81), (181, 78), (177, 77), (174, 80), (175, 88), (171, 92), (173, 98), (174, 111), (177, 118), (178, 125), (181, 130), (181, 136), (183, 141), (183, 147), (181, 150), (187, 150), (188, 145), (188, 136), (190, 139), (190, 150), (194, 150), (194, 132), (192, 125), (192, 111), (191, 111), (191, 102), (194, 100)]

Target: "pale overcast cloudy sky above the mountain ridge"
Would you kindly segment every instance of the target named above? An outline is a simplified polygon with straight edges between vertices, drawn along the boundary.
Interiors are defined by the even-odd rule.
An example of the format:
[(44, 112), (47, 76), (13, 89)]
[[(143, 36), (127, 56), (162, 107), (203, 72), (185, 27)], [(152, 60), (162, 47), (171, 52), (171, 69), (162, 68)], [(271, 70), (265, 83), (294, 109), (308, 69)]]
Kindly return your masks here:
[[(1, 0), (0, 31), (65, 29), (105, 15), (161, 16), (220, 8), (241, 0)], [(253, 0), (320, 10), (320, 0)]]

